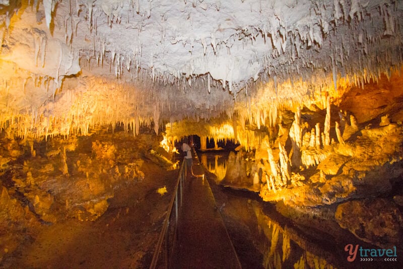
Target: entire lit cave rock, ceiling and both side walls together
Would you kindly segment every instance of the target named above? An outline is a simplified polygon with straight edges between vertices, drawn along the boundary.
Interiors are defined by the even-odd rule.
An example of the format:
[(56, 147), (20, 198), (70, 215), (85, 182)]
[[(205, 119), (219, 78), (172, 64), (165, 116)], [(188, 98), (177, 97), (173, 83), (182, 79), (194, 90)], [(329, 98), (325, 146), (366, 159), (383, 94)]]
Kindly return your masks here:
[[(197, 134), (243, 149), (222, 184), (397, 244), (343, 213), (399, 209), (402, 1), (0, 0), (0, 33), (2, 231), (96, 220)], [(135, 146), (103, 139), (116, 128)]]

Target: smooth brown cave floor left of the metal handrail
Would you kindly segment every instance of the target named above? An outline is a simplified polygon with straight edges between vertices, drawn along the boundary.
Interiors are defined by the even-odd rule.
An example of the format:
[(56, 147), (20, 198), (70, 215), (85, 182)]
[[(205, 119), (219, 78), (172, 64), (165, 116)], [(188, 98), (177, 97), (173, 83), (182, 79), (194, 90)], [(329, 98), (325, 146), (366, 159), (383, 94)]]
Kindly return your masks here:
[[(10, 268), (148, 267), (171, 199), (177, 170), (153, 163), (146, 177), (115, 190), (107, 211), (94, 222), (67, 219), (45, 227), (9, 257)], [(157, 189), (166, 186), (168, 193)]]

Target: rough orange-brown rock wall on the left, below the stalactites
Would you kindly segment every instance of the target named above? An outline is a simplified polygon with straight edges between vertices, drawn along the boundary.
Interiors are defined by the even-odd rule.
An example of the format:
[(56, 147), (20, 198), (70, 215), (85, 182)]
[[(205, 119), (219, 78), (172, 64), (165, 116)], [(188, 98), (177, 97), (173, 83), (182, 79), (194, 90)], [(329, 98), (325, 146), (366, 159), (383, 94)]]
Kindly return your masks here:
[(100, 132), (32, 144), (2, 135), (0, 154), (9, 161), (0, 170), (0, 263), (48, 226), (98, 220), (116, 191), (144, 181), (145, 162), (166, 167), (165, 161), (146, 158), (150, 149), (163, 153), (161, 137), (152, 134)]

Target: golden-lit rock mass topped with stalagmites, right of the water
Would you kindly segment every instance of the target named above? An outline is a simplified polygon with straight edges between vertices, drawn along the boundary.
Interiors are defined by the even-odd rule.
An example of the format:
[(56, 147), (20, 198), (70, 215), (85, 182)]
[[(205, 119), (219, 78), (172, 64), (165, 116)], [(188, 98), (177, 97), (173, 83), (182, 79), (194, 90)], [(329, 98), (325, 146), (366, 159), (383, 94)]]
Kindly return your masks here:
[[(387, 102), (396, 102), (394, 107), (401, 103), (395, 97)], [(259, 195), (264, 201), (283, 204), (286, 215), (287, 210), (326, 219), (333, 214), (331, 218), (361, 240), (379, 247), (399, 245), (402, 193), (393, 188), (401, 184), (403, 176), (403, 126), (390, 119), (402, 119), (401, 110), (393, 109), (388, 116), (382, 112), (364, 126), (349, 112), (338, 114), (345, 110), (331, 108), (328, 98), (326, 103), (322, 110), (296, 110), (285, 147), (280, 142), (279, 148), (266, 142), (256, 148), (255, 162), (262, 170)], [(360, 105), (359, 98), (356, 105)], [(328, 129), (330, 122), (335, 123), (334, 128)], [(320, 140), (322, 124), (325, 129)], [(277, 141), (286, 133), (283, 130), (264, 141)], [(263, 148), (266, 155), (261, 153)], [(287, 167), (287, 148), (291, 164), (299, 162), (300, 167)], [(368, 197), (385, 196), (388, 198), (367, 201)], [(361, 217), (357, 220), (357, 216)], [(374, 216), (379, 218), (375, 221)]]

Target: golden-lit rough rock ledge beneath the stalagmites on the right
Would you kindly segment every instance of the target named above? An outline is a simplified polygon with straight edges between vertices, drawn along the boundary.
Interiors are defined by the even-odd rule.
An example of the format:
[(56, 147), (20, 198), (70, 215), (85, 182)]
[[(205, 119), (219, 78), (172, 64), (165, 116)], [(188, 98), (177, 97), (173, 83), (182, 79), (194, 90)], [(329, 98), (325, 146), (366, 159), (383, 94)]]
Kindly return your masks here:
[(403, 175), (403, 128), (389, 124), (361, 132), (352, 142), (333, 145), (334, 153), (306, 185), (298, 183), (277, 192), (263, 187), (260, 195), (267, 201), (284, 199), (290, 205), (315, 206), (388, 193), (391, 180)]

